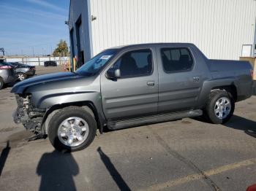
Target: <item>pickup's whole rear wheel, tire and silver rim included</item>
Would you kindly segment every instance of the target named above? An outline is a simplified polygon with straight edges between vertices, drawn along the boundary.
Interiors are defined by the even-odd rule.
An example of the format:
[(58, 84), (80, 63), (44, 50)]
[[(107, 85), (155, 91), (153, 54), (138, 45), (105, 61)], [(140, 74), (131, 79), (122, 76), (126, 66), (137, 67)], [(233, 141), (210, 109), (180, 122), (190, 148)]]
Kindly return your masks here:
[(206, 116), (215, 124), (223, 124), (230, 120), (235, 109), (235, 101), (225, 90), (211, 92), (206, 104)]

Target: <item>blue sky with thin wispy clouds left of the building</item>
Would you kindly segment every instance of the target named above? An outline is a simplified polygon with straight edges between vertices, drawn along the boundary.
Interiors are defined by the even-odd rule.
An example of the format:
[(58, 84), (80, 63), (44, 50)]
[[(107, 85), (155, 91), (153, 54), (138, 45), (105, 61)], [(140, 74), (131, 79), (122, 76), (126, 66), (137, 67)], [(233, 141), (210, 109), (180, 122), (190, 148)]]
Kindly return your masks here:
[[(0, 47), (7, 55), (48, 55), (69, 44), (69, 0), (0, 0)], [(0, 53), (1, 55), (1, 53)]]

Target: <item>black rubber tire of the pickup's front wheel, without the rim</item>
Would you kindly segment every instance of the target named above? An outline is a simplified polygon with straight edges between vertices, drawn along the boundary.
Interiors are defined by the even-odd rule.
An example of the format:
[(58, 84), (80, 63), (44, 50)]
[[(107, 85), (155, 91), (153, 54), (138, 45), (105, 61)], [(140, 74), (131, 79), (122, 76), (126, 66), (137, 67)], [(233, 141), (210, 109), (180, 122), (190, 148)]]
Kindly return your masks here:
[[(73, 152), (78, 151), (81, 149), (85, 149), (88, 147), (91, 142), (94, 140), (97, 131), (97, 122), (95, 121), (94, 117), (90, 114), (90, 112), (86, 111), (87, 109), (83, 109), (78, 106), (68, 106), (64, 109), (60, 109), (59, 112), (53, 114), (49, 125), (48, 125), (48, 137), (50, 143), (53, 147), (60, 152)], [(67, 120), (69, 117), (80, 117), (81, 119), (85, 120), (89, 125), (89, 134), (83, 143), (75, 147), (69, 147), (63, 144), (58, 136), (58, 128), (61, 125), (61, 122)]]

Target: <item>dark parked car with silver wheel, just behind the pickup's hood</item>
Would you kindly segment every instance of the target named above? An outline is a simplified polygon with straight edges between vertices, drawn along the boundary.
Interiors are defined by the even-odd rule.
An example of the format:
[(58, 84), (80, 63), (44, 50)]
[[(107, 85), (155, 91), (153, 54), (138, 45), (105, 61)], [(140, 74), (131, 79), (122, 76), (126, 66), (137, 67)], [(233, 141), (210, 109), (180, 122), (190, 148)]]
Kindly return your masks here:
[(35, 66), (29, 66), (27, 64), (23, 63), (10, 63), (12, 66), (15, 67), (15, 73), (18, 77), (18, 80), (23, 81), (24, 79), (28, 77), (34, 76), (36, 74), (36, 67)]

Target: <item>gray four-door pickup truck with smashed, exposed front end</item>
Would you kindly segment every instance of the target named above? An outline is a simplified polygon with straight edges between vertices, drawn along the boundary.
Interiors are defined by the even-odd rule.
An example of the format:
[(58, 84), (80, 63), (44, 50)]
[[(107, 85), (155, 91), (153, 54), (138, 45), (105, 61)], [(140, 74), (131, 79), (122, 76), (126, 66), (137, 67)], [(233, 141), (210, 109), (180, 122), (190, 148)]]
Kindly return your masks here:
[(252, 66), (209, 60), (194, 44), (135, 44), (104, 50), (73, 73), (26, 79), (11, 92), (15, 122), (48, 135), (58, 150), (75, 151), (97, 129), (197, 116), (227, 122), (235, 102), (252, 95)]

